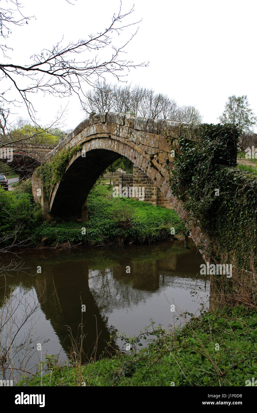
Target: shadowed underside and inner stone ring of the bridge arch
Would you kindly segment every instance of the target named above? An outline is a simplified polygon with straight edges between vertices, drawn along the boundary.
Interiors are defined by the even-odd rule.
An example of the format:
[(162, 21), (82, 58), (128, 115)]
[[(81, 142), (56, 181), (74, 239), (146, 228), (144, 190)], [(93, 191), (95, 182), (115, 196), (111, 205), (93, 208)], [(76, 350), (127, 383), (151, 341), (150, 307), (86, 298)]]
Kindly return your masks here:
[[(66, 167), (63, 180), (55, 186), (49, 200), (50, 214), (64, 217), (80, 215), (97, 178), (120, 156), (130, 159), (136, 166), (140, 164), (148, 178), (152, 181), (157, 180), (156, 169), (149, 164), (144, 154), (138, 153), (127, 144), (118, 145), (117, 140), (104, 135), (97, 139), (92, 138), (73, 155)], [(142, 167), (142, 159), (147, 160), (145, 168)], [(161, 176), (158, 178), (160, 179)], [(161, 184), (160, 190), (162, 190)]]

